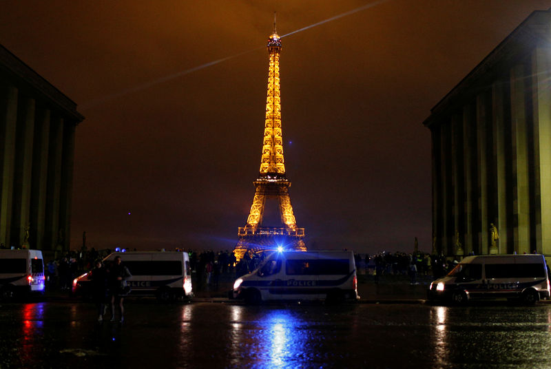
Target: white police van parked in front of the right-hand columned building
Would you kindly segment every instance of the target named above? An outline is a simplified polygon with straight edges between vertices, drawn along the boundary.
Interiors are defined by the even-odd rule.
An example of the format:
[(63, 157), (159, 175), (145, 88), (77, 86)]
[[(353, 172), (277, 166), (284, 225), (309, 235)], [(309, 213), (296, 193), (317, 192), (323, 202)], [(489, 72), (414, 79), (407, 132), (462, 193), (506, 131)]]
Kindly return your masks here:
[(465, 304), (504, 297), (535, 304), (550, 295), (548, 273), (543, 255), (468, 256), (430, 284), (428, 299)]

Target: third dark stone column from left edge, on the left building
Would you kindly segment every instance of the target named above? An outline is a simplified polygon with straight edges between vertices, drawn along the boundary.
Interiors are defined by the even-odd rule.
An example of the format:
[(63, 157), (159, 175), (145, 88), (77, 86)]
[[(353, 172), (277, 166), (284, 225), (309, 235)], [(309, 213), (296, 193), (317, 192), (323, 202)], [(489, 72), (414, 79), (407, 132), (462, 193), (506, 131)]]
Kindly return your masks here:
[(48, 153), (50, 150), (50, 110), (37, 107), (34, 129), (34, 150), (31, 189), (31, 229), (33, 247), (43, 249), (48, 185)]

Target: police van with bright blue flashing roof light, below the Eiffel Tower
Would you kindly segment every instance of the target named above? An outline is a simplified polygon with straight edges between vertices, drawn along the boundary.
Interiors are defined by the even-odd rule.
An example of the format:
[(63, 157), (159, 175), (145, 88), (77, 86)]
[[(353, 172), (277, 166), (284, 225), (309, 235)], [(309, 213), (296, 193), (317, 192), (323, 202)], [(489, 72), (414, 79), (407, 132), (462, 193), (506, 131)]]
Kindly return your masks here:
[(255, 271), (236, 280), (233, 298), (247, 304), (358, 299), (354, 255), (352, 251), (274, 251)]

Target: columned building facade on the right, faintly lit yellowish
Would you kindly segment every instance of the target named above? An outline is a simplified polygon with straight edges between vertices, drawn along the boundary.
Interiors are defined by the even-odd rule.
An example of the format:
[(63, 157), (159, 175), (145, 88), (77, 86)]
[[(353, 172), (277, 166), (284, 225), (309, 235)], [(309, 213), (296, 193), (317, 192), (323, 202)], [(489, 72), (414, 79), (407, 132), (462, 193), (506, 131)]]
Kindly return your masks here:
[(424, 125), (433, 251), (551, 254), (551, 10), (530, 14)]

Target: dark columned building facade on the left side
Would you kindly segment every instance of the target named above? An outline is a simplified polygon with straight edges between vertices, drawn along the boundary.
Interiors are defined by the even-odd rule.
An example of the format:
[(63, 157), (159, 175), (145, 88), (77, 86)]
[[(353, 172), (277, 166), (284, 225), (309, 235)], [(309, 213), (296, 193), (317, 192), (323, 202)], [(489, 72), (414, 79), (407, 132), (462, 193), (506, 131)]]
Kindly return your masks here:
[(67, 251), (76, 104), (0, 45), (0, 246)]

